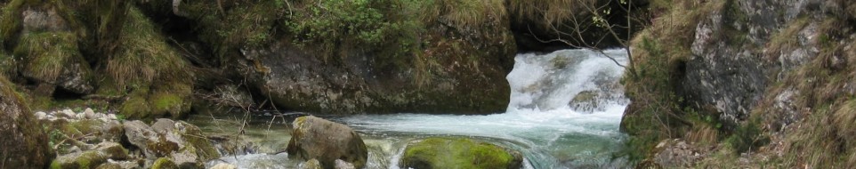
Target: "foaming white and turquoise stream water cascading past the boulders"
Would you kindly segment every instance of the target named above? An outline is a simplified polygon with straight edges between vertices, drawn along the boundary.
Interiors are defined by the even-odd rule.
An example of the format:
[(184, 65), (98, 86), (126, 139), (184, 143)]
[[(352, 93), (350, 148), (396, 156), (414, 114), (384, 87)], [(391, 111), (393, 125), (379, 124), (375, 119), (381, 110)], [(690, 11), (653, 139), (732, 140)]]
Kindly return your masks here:
[[(605, 53), (626, 63), (624, 51)], [(618, 132), (618, 124), (629, 102), (618, 84), (623, 71), (610, 58), (587, 50), (520, 54), (506, 76), (512, 91), (505, 113), (331, 118), (363, 133), (370, 151), (367, 168), (398, 168), (409, 141), (438, 135), (472, 137), (520, 150), (526, 168), (621, 167), (623, 161), (612, 154), (622, 145), (624, 134)], [(590, 97), (580, 99), (578, 93)], [(238, 161), (251, 168), (253, 159), (263, 163), (269, 158)]]

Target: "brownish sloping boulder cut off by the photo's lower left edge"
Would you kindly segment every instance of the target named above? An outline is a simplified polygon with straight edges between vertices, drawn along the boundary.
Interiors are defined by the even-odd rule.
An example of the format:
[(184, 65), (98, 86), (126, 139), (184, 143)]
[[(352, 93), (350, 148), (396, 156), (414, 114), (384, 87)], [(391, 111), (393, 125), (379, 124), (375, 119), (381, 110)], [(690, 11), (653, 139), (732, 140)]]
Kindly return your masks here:
[(0, 135), (0, 168), (43, 168), (53, 157), (42, 126), (4, 76), (0, 76)]

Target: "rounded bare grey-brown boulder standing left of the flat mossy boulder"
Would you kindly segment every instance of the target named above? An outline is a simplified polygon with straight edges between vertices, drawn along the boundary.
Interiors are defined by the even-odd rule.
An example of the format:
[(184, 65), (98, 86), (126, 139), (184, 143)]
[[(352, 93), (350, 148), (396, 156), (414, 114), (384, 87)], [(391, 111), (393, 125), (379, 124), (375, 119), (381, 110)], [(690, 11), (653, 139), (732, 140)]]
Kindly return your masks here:
[(366, 144), (351, 127), (312, 116), (299, 117), (293, 125), (295, 131), (287, 148), (289, 157), (318, 159), (324, 168), (333, 168), (337, 159), (356, 168), (366, 165)]

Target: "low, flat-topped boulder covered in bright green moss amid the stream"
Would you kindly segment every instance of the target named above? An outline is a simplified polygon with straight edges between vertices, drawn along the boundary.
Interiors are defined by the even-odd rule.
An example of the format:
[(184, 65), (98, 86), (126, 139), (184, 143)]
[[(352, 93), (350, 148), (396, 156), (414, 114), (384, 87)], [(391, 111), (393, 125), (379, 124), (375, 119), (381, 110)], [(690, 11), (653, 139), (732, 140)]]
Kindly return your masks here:
[(400, 165), (410, 168), (519, 169), (523, 157), (515, 150), (463, 138), (428, 138), (411, 142)]

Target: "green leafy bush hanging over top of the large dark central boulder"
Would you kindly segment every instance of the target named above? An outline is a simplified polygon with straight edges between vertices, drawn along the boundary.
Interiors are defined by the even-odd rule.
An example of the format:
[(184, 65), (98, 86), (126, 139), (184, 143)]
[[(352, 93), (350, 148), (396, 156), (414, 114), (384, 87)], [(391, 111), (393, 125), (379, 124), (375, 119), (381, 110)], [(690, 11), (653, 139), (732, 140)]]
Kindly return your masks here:
[(287, 16), (287, 32), (297, 44), (317, 44), (322, 60), (343, 55), (336, 51), (362, 49), (384, 52), (395, 60), (416, 52), (420, 23), (414, 17), (419, 1), (412, 0), (306, 0)]

